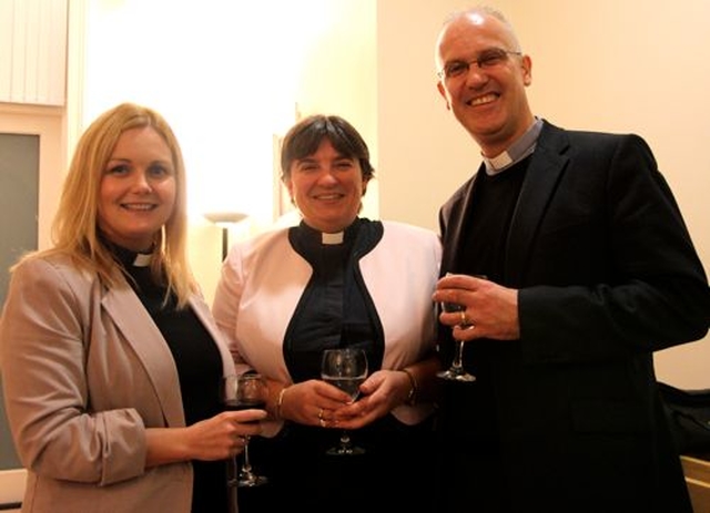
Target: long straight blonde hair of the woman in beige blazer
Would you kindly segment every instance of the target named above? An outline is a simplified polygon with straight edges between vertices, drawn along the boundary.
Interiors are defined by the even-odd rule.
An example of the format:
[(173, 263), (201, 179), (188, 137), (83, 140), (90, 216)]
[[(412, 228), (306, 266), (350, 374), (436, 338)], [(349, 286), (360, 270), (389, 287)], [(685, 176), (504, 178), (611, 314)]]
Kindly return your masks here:
[(59, 209), (52, 223), (53, 247), (24, 258), (69, 255), (74, 264), (95, 273), (108, 287), (115, 286), (121, 275), (111, 250), (100, 239), (98, 228), (99, 188), (106, 163), (121, 134), (126, 130), (150, 126), (168, 144), (175, 176), (175, 204), (170, 218), (155, 234), (151, 271), (156, 283), (164, 283), (178, 298), (179, 307), (187, 304), (197, 290), (186, 257), (187, 207), (185, 166), (178, 140), (158, 112), (133, 103), (122, 103), (94, 120), (82, 134), (63, 184)]

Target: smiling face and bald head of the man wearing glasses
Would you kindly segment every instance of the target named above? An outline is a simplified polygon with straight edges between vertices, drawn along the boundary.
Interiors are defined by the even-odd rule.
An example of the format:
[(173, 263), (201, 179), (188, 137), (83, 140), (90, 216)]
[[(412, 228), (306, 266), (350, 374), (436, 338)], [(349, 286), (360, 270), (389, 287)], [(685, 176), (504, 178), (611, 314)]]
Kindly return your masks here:
[(506, 53), (480, 69), (475, 61), (487, 52), (519, 49), (509, 25), (478, 11), (450, 21), (442, 30), (437, 48), (437, 70), (455, 62), (470, 63), (468, 71), (457, 76), (442, 76), (437, 86), (484, 155), (498, 155), (535, 121), (525, 91), (531, 82), (530, 58)]

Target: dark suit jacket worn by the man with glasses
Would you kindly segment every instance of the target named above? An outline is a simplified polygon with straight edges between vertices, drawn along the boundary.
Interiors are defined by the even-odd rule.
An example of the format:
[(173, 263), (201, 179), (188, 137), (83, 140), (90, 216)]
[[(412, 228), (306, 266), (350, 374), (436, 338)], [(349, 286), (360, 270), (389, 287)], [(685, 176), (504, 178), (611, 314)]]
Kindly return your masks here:
[[(458, 267), (475, 187), (474, 176), (442, 208), (442, 274)], [(497, 422), (511, 511), (690, 511), (652, 352), (704, 336), (710, 289), (648, 145), (545, 122), (505, 236), (501, 285), (520, 289), (520, 339), (471, 342), (489, 348), (478, 363), (490, 403), (471, 391), (479, 383), (450, 387), (449, 469), (465, 474), (462, 454), (481, 449), (475, 427), (447, 423), (466, 409)], [(448, 445), (457, 439), (463, 451)], [(476, 505), (470, 484), (460, 511)]]

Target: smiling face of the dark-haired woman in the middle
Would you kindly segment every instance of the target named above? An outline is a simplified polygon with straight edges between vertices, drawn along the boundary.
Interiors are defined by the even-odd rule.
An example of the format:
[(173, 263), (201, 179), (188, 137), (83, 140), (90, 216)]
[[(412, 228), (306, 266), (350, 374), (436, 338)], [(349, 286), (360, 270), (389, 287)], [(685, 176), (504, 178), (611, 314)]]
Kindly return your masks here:
[(285, 184), (308, 226), (336, 233), (357, 217), (367, 179), (359, 161), (337, 152), (326, 137), (315, 153), (291, 163)]

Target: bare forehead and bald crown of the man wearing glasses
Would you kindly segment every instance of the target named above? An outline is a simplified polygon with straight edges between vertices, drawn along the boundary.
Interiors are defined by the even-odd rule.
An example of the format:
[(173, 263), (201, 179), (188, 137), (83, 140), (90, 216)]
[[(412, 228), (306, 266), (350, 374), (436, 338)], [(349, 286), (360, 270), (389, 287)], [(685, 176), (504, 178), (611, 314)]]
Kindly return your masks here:
[(452, 20), (439, 34), (438, 63), (469, 58), (487, 48), (508, 48), (510, 38), (504, 23), (478, 12)]

